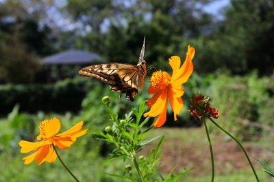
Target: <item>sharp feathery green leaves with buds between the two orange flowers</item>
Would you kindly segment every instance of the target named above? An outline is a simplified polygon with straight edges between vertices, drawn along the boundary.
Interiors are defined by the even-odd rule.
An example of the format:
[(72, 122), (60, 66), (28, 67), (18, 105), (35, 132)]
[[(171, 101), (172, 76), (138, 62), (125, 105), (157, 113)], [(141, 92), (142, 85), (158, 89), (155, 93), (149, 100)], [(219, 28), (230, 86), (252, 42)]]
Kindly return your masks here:
[[(104, 100), (104, 98), (103, 98)], [(104, 102), (104, 101), (103, 101)], [(108, 105), (110, 101), (104, 102), (106, 108), (110, 112), (112, 118), (112, 126), (105, 127), (105, 133), (101, 131), (94, 131), (99, 140), (110, 142), (114, 145), (112, 150), (111, 157), (123, 157), (124, 161), (129, 161), (131, 164), (127, 167), (127, 171), (123, 172), (123, 175), (112, 175), (113, 177), (119, 177), (121, 179), (129, 179), (131, 181), (159, 181), (155, 178), (155, 170), (157, 169), (158, 163), (160, 161), (160, 149), (162, 147), (162, 142), (164, 141), (164, 136), (162, 136), (160, 142), (152, 149), (151, 152), (144, 157), (140, 155), (139, 157), (136, 154), (142, 150), (142, 147), (149, 145), (150, 142), (160, 138), (160, 136), (155, 136), (154, 138), (146, 139), (146, 136), (153, 127), (147, 129), (142, 129), (142, 127), (149, 121), (147, 117), (144, 121), (141, 121), (142, 115), (145, 112), (145, 102), (142, 102), (139, 106), (139, 109), (132, 109), (136, 117), (136, 121), (129, 115), (125, 115), (125, 119), (119, 119), (113, 110)], [(135, 166), (137, 175), (134, 175), (132, 171), (132, 166)], [(172, 175), (173, 170), (170, 174), (164, 179), (160, 175), (162, 181), (177, 181), (179, 177), (186, 174), (186, 170), (177, 175)], [(135, 172), (136, 173), (136, 172)]]

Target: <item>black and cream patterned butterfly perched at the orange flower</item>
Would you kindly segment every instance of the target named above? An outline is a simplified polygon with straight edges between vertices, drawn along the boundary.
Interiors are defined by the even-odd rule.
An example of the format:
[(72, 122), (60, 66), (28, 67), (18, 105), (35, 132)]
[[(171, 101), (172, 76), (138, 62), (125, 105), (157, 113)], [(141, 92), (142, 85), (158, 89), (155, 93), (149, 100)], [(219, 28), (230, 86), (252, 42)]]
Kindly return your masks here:
[[(137, 65), (127, 63), (104, 63), (84, 67), (78, 72), (80, 76), (97, 78), (108, 83), (112, 91), (125, 93), (126, 98), (134, 101), (134, 95), (138, 89), (144, 87), (145, 76), (147, 75), (145, 55), (145, 38), (142, 44), (140, 57)], [(120, 97), (121, 97), (120, 94)]]

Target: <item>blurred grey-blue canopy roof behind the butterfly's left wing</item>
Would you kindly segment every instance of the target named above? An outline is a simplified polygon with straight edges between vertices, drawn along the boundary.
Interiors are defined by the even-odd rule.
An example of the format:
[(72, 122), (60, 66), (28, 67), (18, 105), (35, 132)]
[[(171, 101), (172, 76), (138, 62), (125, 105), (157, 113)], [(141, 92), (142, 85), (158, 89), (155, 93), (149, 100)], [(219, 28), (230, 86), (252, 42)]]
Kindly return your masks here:
[(66, 50), (42, 59), (43, 64), (86, 64), (101, 61), (101, 57), (92, 52), (83, 50)]

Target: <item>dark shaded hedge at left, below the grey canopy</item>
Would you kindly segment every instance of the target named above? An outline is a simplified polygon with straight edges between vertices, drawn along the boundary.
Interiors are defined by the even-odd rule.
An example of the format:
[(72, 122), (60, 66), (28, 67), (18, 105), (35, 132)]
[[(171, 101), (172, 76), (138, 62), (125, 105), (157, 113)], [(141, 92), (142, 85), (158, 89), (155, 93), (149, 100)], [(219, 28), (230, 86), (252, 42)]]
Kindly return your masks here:
[(0, 85), (1, 114), (6, 115), (15, 104), (21, 111), (77, 112), (86, 93), (100, 85), (87, 78), (68, 78), (54, 84)]

